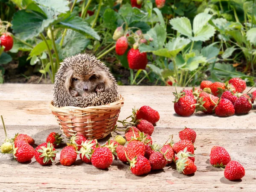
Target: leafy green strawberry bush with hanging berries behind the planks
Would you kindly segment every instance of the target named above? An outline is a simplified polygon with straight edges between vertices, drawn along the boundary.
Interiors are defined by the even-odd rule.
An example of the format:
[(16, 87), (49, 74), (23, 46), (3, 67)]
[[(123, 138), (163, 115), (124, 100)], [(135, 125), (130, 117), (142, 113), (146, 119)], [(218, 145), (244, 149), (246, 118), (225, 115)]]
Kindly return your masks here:
[[(54, 81), (62, 59), (91, 52), (119, 84), (255, 81), (253, 1), (1, 0), (0, 82), (10, 62)], [(6, 12), (3, 12), (5, 8)], [(8, 46), (8, 45), (7, 45)], [(30, 73), (26, 73), (30, 70)], [(32, 71), (32, 73), (31, 73)], [(128, 71), (128, 74), (123, 74)], [(40, 78), (40, 80), (41, 80)], [(127, 84), (127, 83), (125, 83)]]

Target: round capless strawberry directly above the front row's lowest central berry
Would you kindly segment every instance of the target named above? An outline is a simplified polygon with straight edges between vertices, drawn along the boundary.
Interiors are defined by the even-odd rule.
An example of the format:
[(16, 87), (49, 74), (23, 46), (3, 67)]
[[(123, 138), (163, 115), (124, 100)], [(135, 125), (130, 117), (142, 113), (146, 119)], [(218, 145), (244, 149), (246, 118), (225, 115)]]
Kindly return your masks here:
[(136, 155), (144, 156), (145, 151), (146, 148), (142, 142), (138, 140), (131, 140), (131, 142), (127, 145), (126, 153), (129, 159), (133, 159)]

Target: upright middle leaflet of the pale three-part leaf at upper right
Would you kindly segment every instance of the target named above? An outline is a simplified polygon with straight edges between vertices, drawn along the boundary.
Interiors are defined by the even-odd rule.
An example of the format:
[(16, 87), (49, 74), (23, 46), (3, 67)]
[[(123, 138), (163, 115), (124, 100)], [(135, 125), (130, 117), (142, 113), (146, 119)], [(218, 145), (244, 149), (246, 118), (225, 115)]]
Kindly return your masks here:
[(198, 36), (199, 33), (201, 34), (202, 28), (208, 23), (211, 18), (212, 15), (209, 15), (207, 13), (199, 13), (195, 16), (193, 20), (193, 32), (195, 36)]

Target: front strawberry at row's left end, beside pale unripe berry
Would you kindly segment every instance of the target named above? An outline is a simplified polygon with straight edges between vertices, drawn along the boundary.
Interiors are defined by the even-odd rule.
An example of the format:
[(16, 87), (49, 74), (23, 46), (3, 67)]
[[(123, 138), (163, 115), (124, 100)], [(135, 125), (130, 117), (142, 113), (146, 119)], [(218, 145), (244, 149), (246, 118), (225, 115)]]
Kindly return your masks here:
[(19, 163), (30, 161), (35, 154), (34, 148), (29, 143), (24, 141), (16, 141), (15, 149), (13, 150), (13, 157)]

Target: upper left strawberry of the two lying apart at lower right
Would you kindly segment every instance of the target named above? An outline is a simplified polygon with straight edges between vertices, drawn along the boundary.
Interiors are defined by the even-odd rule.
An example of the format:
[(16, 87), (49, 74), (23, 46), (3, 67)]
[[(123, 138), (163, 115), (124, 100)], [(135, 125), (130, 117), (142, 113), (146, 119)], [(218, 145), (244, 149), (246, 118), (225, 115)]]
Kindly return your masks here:
[(214, 167), (224, 167), (230, 160), (230, 155), (224, 147), (216, 147), (210, 154), (210, 163)]

